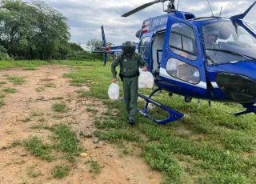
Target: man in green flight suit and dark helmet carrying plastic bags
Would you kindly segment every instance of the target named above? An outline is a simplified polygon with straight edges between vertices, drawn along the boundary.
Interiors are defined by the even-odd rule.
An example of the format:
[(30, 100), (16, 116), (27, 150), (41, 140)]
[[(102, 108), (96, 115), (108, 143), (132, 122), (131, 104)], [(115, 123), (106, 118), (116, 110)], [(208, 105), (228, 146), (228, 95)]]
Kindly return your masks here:
[(147, 70), (147, 63), (142, 59), (142, 55), (135, 52), (134, 42), (127, 41), (122, 44), (122, 54), (119, 54), (111, 64), (113, 82), (117, 82), (116, 66), (120, 64), (120, 77), (123, 82), (124, 97), (126, 101), (126, 111), (130, 125), (134, 125), (137, 113), (138, 100), (138, 76), (139, 66), (142, 70)]

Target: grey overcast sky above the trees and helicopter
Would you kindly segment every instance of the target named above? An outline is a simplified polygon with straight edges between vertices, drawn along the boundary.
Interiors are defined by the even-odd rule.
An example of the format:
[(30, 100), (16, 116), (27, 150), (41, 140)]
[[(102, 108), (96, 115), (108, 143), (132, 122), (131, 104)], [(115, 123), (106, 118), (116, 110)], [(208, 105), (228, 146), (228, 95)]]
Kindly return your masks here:
[[(143, 20), (150, 16), (166, 14), (162, 11), (162, 3), (158, 3), (130, 15), (130, 17), (121, 17), (122, 14), (150, 2), (150, 0), (45, 0), (44, 2), (68, 18), (70, 42), (84, 43), (92, 38), (101, 40), (100, 26), (102, 25), (107, 42), (112, 42), (114, 45), (120, 45), (126, 40), (138, 42), (135, 33), (141, 29)], [(243, 13), (254, 0), (209, 0), (209, 2), (215, 15), (219, 14), (222, 6), (222, 16), (229, 18), (234, 14)], [(176, 7), (177, 4), (178, 0), (175, 2)], [(189, 11), (197, 17), (211, 15), (206, 0), (180, 0), (178, 10)], [(256, 5), (253, 8), (254, 14), (255, 10)], [(249, 15), (246, 20), (256, 25), (256, 19), (252, 18), (254, 17), (253, 13)], [(82, 47), (85, 48), (85, 46)]]

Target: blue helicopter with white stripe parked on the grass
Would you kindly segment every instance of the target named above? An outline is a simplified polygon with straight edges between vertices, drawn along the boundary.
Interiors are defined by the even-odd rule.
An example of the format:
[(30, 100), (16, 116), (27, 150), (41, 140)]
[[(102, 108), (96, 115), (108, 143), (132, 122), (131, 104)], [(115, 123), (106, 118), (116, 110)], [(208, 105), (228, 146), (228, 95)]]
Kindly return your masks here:
[[(241, 104), (246, 110), (235, 116), (256, 114), (256, 30), (243, 20), (256, 1), (244, 13), (230, 18), (222, 18), (221, 12), (219, 16), (197, 18), (177, 10), (175, 0), (148, 2), (122, 17), (167, 1), (166, 14), (147, 18), (135, 34), (139, 39), (136, 49), (157, 86), (148, 97), (138, 94), (146, 101), (144, 109), (138, 111), (159, 124), (182, 118), (184, 114), (151, 99), (165, 90), (170, 96), (184, 96), (185, 102), (197, 98), (209, 105), (211, 101)], [(121, 54), (122, 46), (106, 46), (103, 26), (102, 41), (103, 47), (92, 52), (103, 53), (106, 65), (107, 54)], [(169, 117), (159, 120), (147, 114), (149, 103), (166, 110)]]

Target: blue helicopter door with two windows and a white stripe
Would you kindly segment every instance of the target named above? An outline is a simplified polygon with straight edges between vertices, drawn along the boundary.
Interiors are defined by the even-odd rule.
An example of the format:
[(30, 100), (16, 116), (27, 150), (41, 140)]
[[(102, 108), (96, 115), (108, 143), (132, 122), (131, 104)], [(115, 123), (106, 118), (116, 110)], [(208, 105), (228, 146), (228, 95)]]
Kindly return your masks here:
[(160, 78), (180, 86), (180, 90), (206, 94), (206, 74), (196, 26), (169, 16)]

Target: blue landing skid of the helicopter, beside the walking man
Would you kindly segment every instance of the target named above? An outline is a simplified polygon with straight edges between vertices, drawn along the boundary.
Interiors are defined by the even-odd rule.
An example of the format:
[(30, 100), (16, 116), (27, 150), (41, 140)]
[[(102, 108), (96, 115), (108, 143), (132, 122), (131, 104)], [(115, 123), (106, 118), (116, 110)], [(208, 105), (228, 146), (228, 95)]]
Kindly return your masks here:
[[(141, 113), (142, 115), (144, 115), (146, 118), (150, 118), (151, 120), (153, 120), (154, 122), (157, 122), (158, 124), (166, 124), (168, 122), (174, 122), (174, 121), (177, 121), (179, 120), (180, 118), (183, 117), (183, 114), (175, 111), (175, 110), (172, 110), (170, 109), (169, 107), (167, 106), (164, 106), (162, 105), (161, 103), (159, 102), (155, 102), (154, 100), (151, 99), (151, 97), (158, 91), (161, 91), (162, 89), (158, 88), (156, 90), (154, 90), (149, 97), (146, 97), (144, 96), (143, 94), (138, 94), (138, 96), (140, 98), (143, 98), (145, 101), (146, 101), (146, 105), (144, 106), (144, 109), (143, 110), (140, 110), (138, 109), (139, 113)], [(163, 119), (163, 120), (158, 120), (158, 119), (155, 119), (154, 117), (152, 117), (150, 114), (147, 114), (147, 108), (148, 108), (148, 105), (149, 103), (153, 103), (154, 105), (156, 106), (159, 106), (162, 110), (166, 110), (168, 112), (168, 114), (170, 115), (169, 118), (166, 118), (166, 119)]]

